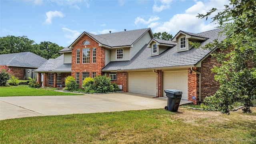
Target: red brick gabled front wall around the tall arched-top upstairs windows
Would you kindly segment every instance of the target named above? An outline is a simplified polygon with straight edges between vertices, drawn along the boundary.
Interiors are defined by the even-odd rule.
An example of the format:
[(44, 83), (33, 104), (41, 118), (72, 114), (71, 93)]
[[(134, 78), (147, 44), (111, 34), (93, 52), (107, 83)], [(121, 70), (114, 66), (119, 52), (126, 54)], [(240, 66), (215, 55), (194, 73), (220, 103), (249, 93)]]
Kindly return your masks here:
[[(82, 45), (84, 40), (89, 40), (90, 45), (86, 45), (86, 48), (90, 48), (90, 63), (82, 64), (82, 49), (85, 46)], [(92, 48), (96, 48), (96, 63), (92, 63)], [(76, 50), (80, 49), (80, 64), (76, 64)], [(80, 72), (80, 87), (82, 87), (82, 72), (90, 72), (90, 77), (92, 77), (92, 72), (96, 72), (96, 75), (101, 75), (101, 69), (105, 66), (105, 48), (98, 46), (98, 42), (94, 41), (89, 36), (85, 35), (82, 37), (72, 49), (72, 67), (71, 76), (76, 78), (76, 72)]]

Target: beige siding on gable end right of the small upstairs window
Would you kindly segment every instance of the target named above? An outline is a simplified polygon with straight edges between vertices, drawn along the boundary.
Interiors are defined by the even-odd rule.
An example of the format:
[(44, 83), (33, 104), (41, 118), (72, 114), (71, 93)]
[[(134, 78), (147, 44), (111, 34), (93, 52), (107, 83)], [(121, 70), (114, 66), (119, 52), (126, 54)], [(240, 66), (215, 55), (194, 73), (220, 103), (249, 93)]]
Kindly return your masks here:
[(146, 34), (144, 34), (137, 42), (135, 42), (133, 47), (130, 48), (130, 59), (129, 60), (131, 60), (135, 56), (135, 54), (137, 54), (138, 51), (140, 51), (140, 49), (145, 44), (148, 44), (151, 39), (152, 38), (151, 38), (149, 32), (146, 32)]

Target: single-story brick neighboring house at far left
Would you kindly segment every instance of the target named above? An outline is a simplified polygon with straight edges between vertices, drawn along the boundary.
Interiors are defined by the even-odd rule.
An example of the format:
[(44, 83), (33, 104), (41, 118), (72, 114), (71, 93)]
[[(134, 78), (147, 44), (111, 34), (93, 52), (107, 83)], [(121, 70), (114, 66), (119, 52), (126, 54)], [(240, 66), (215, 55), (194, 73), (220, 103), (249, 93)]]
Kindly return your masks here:
[(13, 54), (0, 54), (0, 65), (7, 65), (12, 69), (14, 76), (19, 80), (27, 80), (36, 78), (37, 73), (34, 72), (47, 59), (42, 58), (32, 52), (19, 52)]

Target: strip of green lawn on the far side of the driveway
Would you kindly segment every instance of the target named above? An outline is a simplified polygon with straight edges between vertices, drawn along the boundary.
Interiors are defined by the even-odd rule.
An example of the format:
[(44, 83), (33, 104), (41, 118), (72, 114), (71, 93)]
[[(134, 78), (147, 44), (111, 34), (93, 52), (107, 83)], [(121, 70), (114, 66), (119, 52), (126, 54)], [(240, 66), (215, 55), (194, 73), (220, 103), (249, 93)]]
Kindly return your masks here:
[(29, 88), (28, 86), (0, 86), (0, 96), (65, 96), (81, 95), (68, 92), (56, 92), (49, 89)]

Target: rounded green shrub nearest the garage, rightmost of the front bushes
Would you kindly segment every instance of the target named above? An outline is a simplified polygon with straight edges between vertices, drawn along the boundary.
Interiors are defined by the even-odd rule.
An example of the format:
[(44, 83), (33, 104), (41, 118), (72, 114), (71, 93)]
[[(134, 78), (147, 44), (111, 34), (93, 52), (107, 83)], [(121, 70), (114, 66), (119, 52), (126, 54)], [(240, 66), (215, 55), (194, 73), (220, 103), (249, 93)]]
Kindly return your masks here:
[(94, 78), (94, 90), (95, 92), (104, 93), (104, 92), (113, 92), (113, 86), (109, 77), (98, 75)]

